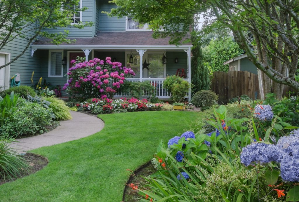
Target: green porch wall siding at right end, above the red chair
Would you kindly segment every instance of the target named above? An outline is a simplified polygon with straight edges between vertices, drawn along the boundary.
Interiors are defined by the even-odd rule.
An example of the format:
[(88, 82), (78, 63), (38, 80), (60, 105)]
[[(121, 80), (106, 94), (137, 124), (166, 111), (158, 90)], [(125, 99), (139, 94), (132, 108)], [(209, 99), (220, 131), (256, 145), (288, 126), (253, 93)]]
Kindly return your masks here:
[[(166, 52), (167, 63), (166, 63), (166, 76), (175, 75), (178, 69), (185, 69), (187, 76), (187, 53), (185, 52)], [(176, 57), (179, 59), (178, 63), (174, 62)]]

